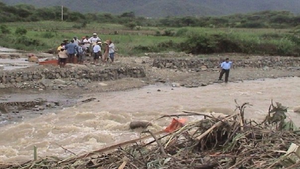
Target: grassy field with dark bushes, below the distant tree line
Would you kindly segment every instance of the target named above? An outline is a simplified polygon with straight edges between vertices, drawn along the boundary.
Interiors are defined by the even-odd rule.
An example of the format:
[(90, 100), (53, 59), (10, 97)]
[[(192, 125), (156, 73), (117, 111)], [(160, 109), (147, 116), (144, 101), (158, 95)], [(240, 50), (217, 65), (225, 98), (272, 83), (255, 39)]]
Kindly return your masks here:
[[(102, 40), (111, 39), (122, 55), (171, 50), (193, 54), (238, 52), (299, 56), (300, 53), (300, 33), (296, 29), (140, 27), (131, 30), (119, 24), (82, 25), (57, 21), (13, 22), (5, 26), (10, 33), (0, 34), (0, 46), (28, 51), (48, 51), (59, 46), (63, 39), (96, 32)], [(16, 34), (18, 28), (27, 32)]]

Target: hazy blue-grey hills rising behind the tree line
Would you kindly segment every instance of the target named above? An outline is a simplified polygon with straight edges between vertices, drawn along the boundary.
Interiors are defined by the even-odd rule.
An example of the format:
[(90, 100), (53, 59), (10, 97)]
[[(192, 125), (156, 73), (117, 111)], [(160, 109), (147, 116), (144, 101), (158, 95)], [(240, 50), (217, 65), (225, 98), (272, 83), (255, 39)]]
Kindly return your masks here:
[(79, 12), (137, 16), (209, 16), (263, 10), (289, 10), (300, 14), (300, 0), (0, 0), (6, 4), (33, 4), (38, 7), (64, 5)]

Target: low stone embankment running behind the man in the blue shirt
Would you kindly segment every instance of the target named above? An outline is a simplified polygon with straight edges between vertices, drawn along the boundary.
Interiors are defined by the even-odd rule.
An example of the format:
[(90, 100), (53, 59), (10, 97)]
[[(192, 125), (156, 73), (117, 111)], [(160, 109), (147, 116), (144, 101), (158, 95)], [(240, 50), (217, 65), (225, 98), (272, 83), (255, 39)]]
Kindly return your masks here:
[[(299, 67), (300, 58), (295, 57), (257, 57), (251, 59), (232, 59), (234, 67)], [(218, 69), (222, 60), (219, 58), (156, 58), (153, 67), (169, 69)]]

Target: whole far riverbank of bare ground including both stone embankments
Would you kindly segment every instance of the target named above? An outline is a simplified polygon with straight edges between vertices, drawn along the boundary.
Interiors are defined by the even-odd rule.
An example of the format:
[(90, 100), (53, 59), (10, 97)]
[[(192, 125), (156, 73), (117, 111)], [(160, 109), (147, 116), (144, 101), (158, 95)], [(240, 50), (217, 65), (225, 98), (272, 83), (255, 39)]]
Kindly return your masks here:
[[(127, 90), (150, 84), (199, 87), (222, 83), (218, 81), (218, 63), (221, 57), (226, 56), (197, 58), (186, 55), (170, 59), (172, 55), (176, 56), (174, 53), (147, 54), (146, 57), (117, 57), (114, 64), (69, 64), (64, 69), (57, 66), (31, 66), (0, 71), (2, 125), (3, 121), (6, 124), (52, 108), (73, 106), (82, 99), (91, 98), (95, 93)], [(229, 83), (300, 77), (299, 58), (235, 55), (230, 59), (234, 66), (230, 71)], [(23, 100), (18, 95), (22, 95), (20, 98)], [(41, 98), (39, 101), (43, 103), (36, 102), (36, 98)], [(56, 99), (60, 104), (55, 103)]]

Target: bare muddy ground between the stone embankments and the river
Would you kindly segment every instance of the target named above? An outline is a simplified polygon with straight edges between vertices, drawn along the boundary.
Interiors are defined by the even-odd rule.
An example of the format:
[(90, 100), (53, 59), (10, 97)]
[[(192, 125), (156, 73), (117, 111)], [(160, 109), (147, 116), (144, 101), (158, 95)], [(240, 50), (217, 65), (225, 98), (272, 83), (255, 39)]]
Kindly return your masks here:
[[(183, 56), (191, 57), (191, 56)], [(211, 57), (211, 56), (207, 56)], [(225, 57), (225, 56), (224, 56)], [(223, 58), (224, 58), (223, 57)], [(251, 57), (235, 54), (235, 58)], [(50, 109), (61, 109), (93, 99), (99, 92), (126, 90), (149, 84), (163, 83), (172, 87), (201, 87), (218, 82), (218, 71), (195, 71), (177, 69), (158, 69), (152, 67), (153, 57), (116, 57), (114, 65), (128, 64), (143, 66), (146, 78), (125, 78), (116, 81), (91, 82), (84, 87), (68, 86), (59, 90), (0, 88), (0, 125), (20, 121), (24, 117), (49, 112)], [(88, 64), (88, 63), (86, 63)], [(100, 65), (109, 67), (111, 63)], [(89, 65), (90, 66), (90, 65)], [(232, 68), (229, 83), (265, 78), (300, 76), (300, 71), (291, 68)]]

